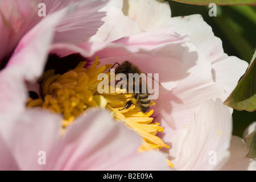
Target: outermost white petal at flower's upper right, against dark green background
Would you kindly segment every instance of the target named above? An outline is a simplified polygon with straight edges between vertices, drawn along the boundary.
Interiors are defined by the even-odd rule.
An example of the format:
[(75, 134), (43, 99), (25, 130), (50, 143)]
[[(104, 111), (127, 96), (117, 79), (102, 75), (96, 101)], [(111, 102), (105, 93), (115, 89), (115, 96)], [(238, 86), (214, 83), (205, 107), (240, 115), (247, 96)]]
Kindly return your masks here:
[(212, 63), (213, 80), (224, 86), (229, 96), (248, 64), (224, 53), (221, 39), (214, 36), (212, 27), (204, 22), (201, 15), (174, 17), (167, 24), (172, 24), (178, 34), (189, 36), (190, 43)]

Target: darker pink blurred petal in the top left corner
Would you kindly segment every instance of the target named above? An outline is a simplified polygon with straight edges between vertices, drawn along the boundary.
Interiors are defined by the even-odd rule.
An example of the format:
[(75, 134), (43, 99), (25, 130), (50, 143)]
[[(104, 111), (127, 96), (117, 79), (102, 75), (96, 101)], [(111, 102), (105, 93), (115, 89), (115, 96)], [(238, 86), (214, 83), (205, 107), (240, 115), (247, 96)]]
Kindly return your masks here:
[(20, 1), (0, 2), (0, 62), (9, 58), (20, 38), (37, 23), (33, 20), (34, 17), (38, 20), (37, 6), (36, 1), (28, 0), (22, 1), (22, 6)]

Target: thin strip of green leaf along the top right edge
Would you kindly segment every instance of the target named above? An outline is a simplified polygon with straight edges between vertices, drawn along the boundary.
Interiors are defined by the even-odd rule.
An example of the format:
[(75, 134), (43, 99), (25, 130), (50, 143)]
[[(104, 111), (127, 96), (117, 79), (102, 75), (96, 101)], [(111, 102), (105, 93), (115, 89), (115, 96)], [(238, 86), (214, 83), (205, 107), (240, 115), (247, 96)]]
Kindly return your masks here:
[(210, 3), (216, 3), (216, 5), (256, 5), (255, 0), (172, 0), (181, 3), (187, 3), (192, 5), (209, 5)]

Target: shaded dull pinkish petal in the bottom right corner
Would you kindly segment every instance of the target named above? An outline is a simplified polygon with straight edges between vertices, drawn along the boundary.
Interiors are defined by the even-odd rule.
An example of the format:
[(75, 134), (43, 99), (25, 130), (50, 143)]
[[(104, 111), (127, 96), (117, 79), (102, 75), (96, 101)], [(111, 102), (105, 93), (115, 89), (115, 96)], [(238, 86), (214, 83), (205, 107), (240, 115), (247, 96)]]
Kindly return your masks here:
[(246, 143), (237, 136), (232, 136), (230, 143), (230, 158), (221, 170), (224, 171), (255, 171), (256, 160), (246, 158), (248, 152)]

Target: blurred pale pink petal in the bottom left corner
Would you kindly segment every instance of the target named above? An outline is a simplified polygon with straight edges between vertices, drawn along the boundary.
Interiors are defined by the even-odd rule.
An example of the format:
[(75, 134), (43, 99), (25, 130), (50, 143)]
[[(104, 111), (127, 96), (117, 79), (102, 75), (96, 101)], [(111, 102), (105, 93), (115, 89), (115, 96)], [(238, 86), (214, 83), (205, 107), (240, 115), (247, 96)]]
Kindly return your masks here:
[(16, 118), (1, 119), (0, 135), (20, 170), (41, 169), (43, 166), (38, 163), (38, 152), (46, 152), (48, 159), (53, 146), (60, 139), (61, 118), (37, 109), (14, 114), (17, 114)]

